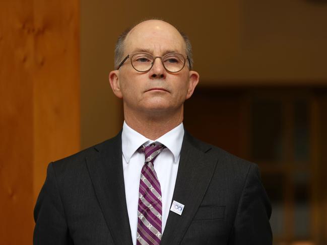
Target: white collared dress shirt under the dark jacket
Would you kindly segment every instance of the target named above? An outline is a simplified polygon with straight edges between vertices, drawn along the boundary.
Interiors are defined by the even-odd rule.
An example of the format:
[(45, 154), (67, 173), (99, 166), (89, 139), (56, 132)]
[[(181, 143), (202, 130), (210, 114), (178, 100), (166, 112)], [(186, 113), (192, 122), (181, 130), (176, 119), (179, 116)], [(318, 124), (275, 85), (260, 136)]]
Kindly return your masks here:
[(134, 245), (136, 245), (138, 226), (140, 177), (145, 161), (144, 153), (139, 153), (136, 150), (142, 144), (147, 146), (152, 142), (160, 142), (167, 147), (157, 156), (154, 161), (154, 169), (157, 173), (161, 187), (161, 233), (163, 234), (175, 188), (183, 136), (184, 127), (182, 123), (156, 140), (146, 138), (142, 134), (130, 128), (126, 122), (123, 124), (121, 133), (122, 167), (124, 173), (127, 212)]

